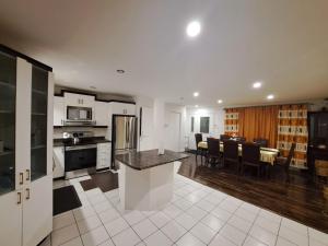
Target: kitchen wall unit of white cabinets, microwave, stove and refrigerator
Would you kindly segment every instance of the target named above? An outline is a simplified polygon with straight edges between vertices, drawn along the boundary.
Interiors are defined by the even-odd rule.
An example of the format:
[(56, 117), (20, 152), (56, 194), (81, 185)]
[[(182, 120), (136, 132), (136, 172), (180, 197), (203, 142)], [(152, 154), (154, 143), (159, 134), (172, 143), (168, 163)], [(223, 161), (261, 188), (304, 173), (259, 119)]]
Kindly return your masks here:
[(116, 171), (112, 156), (137, 150), (136, 103), (61, 90), (54, 96), (54, 179)]

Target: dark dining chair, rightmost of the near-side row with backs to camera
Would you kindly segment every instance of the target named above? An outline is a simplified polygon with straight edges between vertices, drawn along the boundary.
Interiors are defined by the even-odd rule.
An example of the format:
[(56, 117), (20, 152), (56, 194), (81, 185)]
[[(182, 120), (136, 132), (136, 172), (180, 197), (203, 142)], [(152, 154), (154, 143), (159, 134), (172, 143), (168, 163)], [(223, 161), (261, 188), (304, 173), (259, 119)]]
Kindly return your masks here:
[(257, 168), (257, 176), (261, 173), (260, 147), (251, 142), (245, 142), (242, 145), (242, 174), (244, 175), (245, 166)]

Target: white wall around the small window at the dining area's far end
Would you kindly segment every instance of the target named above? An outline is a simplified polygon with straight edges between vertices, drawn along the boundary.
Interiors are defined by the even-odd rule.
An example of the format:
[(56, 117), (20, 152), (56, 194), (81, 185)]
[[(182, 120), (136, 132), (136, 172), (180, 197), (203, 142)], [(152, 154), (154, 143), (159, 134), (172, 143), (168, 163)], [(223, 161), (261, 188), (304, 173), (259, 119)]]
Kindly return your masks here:
[[(191, 132), (191, 117), (195, 117), (194, 132)], [(202, 133), (203, 139), (207, 137), (219, 138), (224, 133), (224, 109), (222, 107), (188, 107), (186, 112), (185, 129), (188, 149), (196, 149), (195, 133), (200, 132), (200, 117), (210, 117), (210, 132)]]

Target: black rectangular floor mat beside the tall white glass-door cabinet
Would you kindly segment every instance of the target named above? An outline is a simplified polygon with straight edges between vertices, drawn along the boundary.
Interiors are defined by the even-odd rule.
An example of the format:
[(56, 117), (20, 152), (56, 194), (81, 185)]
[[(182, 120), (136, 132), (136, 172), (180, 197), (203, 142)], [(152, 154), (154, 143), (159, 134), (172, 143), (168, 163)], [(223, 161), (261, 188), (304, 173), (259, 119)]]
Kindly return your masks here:
[(74, 186), (54, 189), (54, 215), (81, 207)]

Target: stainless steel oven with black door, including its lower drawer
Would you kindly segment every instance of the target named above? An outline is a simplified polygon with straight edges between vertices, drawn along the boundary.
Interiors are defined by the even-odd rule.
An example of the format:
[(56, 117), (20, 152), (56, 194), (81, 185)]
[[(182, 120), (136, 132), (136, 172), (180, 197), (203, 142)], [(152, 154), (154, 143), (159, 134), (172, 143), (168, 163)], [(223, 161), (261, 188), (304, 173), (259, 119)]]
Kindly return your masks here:
[(72, 178), (95, 173), (97, 145), (70, 145), (65, 148), (65, 177)]

